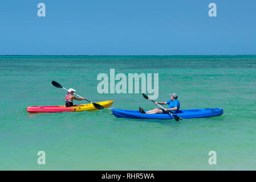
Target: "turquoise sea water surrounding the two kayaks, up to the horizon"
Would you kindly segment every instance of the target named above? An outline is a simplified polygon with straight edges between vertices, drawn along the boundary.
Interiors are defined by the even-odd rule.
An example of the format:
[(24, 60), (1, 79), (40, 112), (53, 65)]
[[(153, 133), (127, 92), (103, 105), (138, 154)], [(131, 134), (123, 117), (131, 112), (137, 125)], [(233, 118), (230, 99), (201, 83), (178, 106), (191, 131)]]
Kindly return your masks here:
[[(256, 56), (1, 56), (1, 170), (255, 170)], [(141, 94), (99, 94), (97, 75), (159, 73), (159, 98), (181, 109), (222, 107), (212, 118), (116, 118), (110, 109), (29, 114), (63, 105), (74, 88), (117, 109), (153, 109)], [(76, 101), (76, 104), (86, 103)], [(38, 165), (38, 151), (46, 165)], [(217, 164), (208, 163), (216, 151)]]

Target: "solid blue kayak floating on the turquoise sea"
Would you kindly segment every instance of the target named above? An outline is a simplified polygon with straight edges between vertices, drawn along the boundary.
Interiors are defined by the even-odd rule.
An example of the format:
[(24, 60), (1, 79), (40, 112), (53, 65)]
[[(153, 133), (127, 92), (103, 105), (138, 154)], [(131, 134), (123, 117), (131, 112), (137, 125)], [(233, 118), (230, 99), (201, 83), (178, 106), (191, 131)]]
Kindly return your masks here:
[[(113, 115), (118, 118), (133, 118), (133, 119), (174, 119), (169, 114), (141, 114), (139, 110), (123, 110), (123, 109), (112, 109)], [(176, 114), (181, 118), (206, 118), (213, 117), (216, 115), (223, 114), (223, 109), (187, 109), (180, 110)]]

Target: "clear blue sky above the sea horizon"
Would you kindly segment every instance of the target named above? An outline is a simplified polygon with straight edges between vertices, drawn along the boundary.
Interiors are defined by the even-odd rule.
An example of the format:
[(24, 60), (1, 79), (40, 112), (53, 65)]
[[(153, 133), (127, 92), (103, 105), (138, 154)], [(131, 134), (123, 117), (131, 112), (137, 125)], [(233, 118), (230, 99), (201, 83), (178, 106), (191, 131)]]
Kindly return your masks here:
[[(46, 17), (38, 17), (38, 3)], [(209, 3), (217, 17), (209, 17)], [(252, 55), (256, 1), (2, 0), (0, 55)]]

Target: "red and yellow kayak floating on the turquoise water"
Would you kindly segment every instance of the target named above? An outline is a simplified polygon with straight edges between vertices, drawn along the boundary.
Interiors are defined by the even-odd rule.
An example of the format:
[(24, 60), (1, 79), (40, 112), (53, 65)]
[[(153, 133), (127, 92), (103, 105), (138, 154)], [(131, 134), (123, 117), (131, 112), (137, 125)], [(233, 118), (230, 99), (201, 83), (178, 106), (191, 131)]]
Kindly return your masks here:
[[(95, 102), (101, 106), (108, 108), (113, 104), (113, 100)], [(79, 104), (77, 107), (66, 107), (66, 106), (29, 106), (27, 111), (29, 113), (62, 113), (62, 112), (74, 112), (74, 111), (90, 111), (97, 110), (93, 104)]]

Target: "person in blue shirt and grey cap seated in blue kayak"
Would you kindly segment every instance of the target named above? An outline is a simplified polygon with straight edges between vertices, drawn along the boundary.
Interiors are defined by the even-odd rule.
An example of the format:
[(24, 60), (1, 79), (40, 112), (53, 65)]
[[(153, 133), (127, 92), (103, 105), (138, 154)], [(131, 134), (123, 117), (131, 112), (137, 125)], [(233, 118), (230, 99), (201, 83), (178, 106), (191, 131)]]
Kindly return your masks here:
[(180, 110), (180, 102), (177, 100), (178, 95), (176, 93), (169, 94), (170, 100), (166, 102), (155, 102), (155, 104), (161, 104), (165, 105), (168, 104), (168, 109), (153, 109), (149, 111), (144, 111), (141, 107), (139, 107), (140, 113), (144, 114), (168, 114), (168, 113), (178, 113), (178, 110)]

